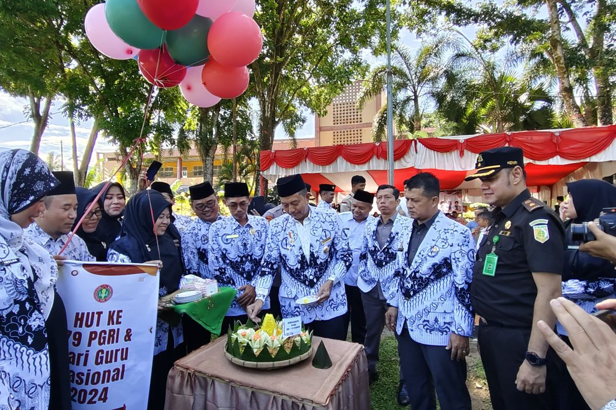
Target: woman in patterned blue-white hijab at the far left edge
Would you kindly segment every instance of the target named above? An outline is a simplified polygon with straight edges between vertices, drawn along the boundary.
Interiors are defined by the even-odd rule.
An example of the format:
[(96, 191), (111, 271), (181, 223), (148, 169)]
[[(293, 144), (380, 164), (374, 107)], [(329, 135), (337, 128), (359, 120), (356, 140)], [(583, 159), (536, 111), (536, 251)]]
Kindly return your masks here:
[[(58, 267), (23, 229), (59, 184), (47, 165), (23, 149), (0, 152), (0, 408), (70, 408), (67, 318), (55, 294)], [(63, 353), (62, 353), (63, 350)]]

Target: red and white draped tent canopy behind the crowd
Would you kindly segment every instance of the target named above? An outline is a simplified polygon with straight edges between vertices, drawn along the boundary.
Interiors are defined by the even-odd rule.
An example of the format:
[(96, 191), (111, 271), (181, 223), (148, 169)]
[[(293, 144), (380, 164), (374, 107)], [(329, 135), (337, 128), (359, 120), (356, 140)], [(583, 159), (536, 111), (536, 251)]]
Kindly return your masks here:
[[(477, 154), (500, 146), (524, 150), (527, 184), (537, 187), (541, 199), (562, 195), (564, 182), (602, 178), (616, 173), (616, 125), (567, 130), (523, 131), (483, 135), (421, 138), (394, 142), (394, 183), (429, 171), (440, 179), (442, 190), (463, 189), (465, 200), (480, 198), (473, 173)], [(272, 182), (281, 176), (302, 174), (318, 191), (318, 184), (351, 190), (351, 177), (363, 175), (367, 191), (387, 183), (387, 143), (261, 151), (262, 175)], [(565, 190), (566, 191), (566, 190)]]

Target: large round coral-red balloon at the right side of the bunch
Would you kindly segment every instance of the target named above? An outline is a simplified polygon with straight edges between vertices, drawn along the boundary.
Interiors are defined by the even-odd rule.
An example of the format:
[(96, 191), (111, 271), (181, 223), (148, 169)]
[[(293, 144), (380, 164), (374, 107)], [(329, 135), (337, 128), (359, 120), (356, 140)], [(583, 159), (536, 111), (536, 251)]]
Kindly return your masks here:
[(247, 66), (259, 57), (262, 47), (261, 28), (240, 12), (221, 15), (209, 29), (208, 50), (222, 65)]

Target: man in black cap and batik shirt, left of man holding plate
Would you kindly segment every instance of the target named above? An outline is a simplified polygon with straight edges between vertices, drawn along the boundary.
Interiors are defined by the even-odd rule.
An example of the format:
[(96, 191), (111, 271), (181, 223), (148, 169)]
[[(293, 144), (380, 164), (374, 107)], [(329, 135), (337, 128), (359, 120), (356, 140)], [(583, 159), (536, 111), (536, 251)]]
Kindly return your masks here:
[[(248, 320), (246, 306), (254, 302), (259, 280), (265, 280), (258, 273), (267, 237), (267, 219), (248, 215), (247, 184), (225, 184), (224, 202), (231, 216), (214, 222), (209, 229), (209, 274), (219, 286), (237, 289), (238, 296), (227, 310), (222, 333), (236, 320)], [(269, 298), (265, 298), (264, 308), (269, 309)]]

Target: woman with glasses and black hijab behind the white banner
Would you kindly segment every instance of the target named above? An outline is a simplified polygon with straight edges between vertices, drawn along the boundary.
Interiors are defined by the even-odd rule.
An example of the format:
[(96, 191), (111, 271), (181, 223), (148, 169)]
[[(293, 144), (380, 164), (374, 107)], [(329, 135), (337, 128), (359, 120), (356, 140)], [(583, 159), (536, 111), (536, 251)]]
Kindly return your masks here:
[(97, 261), (107, 261), (107, 243), (100, 239), (99, 233), (97, 232), (100, 219), (102, 218), (102, 210), (98, 202), (94, 203), (92, 209), (87, 213), (86, 218), (83, 219), (79, 229), (75, 231), (77, 223), (83, 218), (84, 213), (86, 213), (90, 204), (94, 202), (97, 194), (82, 187), (76, 187), (75, 193), (77, 194), (77, 217), (75, 218), (73, 231), (86, 242), (87, 250)]

